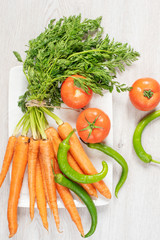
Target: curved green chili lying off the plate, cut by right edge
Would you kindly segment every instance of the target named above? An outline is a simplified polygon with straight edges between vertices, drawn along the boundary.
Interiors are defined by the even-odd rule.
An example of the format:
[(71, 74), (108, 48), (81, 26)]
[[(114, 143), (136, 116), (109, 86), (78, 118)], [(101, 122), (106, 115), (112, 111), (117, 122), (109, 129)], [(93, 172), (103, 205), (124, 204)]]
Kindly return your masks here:
[(145, 152), (144, 148), (142, 147), (141, 143), (141, 137), (142, 137), (142, 132), (144, 128), (154, 119), (157, 117), (160, 117), (160, 110), (155, 111), (149, 115), (147, 115), (145, 118), (143, 118), (137, 125), (134, 135), (133, 135), (133, 147), (135, 152), (137, 153), (137, 156), (145, 163), (149, 162), (155, 162), (155, 163), (160, 163), (156, 160), (152, 159), (152, 156), (148, 153)]

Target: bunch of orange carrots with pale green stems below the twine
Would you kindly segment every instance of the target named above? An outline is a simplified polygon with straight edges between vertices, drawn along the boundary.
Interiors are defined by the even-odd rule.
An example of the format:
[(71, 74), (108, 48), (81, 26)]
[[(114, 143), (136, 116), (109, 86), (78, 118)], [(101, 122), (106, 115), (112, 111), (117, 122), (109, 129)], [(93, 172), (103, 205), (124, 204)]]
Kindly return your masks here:
[[(44, 113), (54, 118), (59, 125), (57, 130), (48, 126)], [(20, 129), (22, 129), (21, 135), (19, 135)], [(28, 137), (29, 129), (31, 129), (31, 137)], [(57, 190), (79, 232), (84, 236), (81, 218), (73, 197), (68, 188), (55, 183), (51, 168), (51, 160), (53, 160), (55, 173), (60, 173), (57, 162), (58, 147), (60, 142), (72, 130), (69, 123), (63, 123), (55, 114), (41, 107), (29, 107), (28, 111), (17, 124), (13, 136), (8, 140), (0, 173), (1, 186), (13, 159), (8, 200), (9, 237), (12, 237), (18, 228), (17, 207), (27, 163), (31, 220), (34, 218), (36, 201), (43, 225), (48, 230), (46, 207), (48, 203), (53, 212), (57, 230), (59, 231), (60, 220), (57, 206)], [(70, 166), (82, 174), (96, 174), (95, 167), (84, 152), (75, 133), (70, 139), (70, 146), (70, 152), (68, 153)], [(97, 189), (106, 198), (111, 198), (111, 193), (102, 180), (93, 184), (81, 184), (81, 186), (90, 196), (97, 198)]]

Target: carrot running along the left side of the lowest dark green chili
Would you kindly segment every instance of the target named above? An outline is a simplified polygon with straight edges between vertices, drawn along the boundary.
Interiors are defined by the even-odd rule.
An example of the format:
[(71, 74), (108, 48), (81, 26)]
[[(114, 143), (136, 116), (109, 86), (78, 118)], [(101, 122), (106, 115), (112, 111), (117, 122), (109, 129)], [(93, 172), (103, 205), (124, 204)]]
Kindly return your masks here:
[[(55, 167), (54, 167), (55, 173), (61, 173), (58, 162), (55, 160)], [(56, 183), (56, 188), (58, 190), (58, 193), (64, 203), (65, 208), (68, 210), (72, 221), (76, 224), (79, 232), (84, 236), (84, 230), (81, 222), (81, 218), (79, 216), (79, 213), (77, 211), (76, 205), (74, 203), (73, 197), (69, 191), (68, 188), (63, 187), (62, 185)]]

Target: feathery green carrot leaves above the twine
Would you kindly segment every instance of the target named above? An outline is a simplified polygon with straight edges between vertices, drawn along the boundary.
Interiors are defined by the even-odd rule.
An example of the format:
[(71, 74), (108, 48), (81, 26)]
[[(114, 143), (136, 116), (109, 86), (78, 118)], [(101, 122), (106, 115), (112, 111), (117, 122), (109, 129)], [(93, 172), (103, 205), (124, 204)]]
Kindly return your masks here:
[[(23, 62), (28, 88), (19, 101), (23, 112), (27, 110), (25, 103), (33, 99), (60, 106), (61, 84), (71, 75), (85, 77), (74, 80), (85, 92), (88, 87), (100, 95), (104, 90), (130, 90), (114, 79), (140, 55), (127, 43), (111, 40), (108, 34), (103, 37), (101, 20), (82, 20), (81, 15), (53, 19), (44, 32), (29, 41)], [(14, 51), (14, 55), (22, 62), (19, 53)]]

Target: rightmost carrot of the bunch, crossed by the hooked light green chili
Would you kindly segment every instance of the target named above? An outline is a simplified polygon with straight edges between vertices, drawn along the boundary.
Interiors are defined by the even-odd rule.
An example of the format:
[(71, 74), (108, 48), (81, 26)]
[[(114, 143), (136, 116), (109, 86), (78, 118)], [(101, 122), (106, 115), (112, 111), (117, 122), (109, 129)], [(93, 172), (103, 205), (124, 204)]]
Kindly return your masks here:
[[(73, 128), (69, 123), (63, 123), (58, 127), (58, 133), (62, 139), (65, 139), (72, 130)], [(70, 146), (70, 153), (72, 154), (73, 158), (76, 160), (82, 171), (85, 174), (89, 175), (96, 174), (97, 170), (95, 169), (92, 162), (85, 153), (75, 133), (70, 139)], [(111, 192), (103, 180), (93, 183), (93, 185), (103, 196), (105, 196), (106, 198), (111, 198)]]

